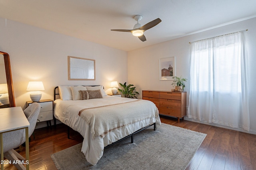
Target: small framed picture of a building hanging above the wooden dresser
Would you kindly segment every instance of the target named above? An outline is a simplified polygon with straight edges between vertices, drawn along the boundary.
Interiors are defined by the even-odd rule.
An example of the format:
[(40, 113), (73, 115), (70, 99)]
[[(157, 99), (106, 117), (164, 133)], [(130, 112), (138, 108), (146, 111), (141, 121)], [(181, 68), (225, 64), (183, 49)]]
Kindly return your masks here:
[(159, 59), (159, 80), (174, 80), (175, 57)]

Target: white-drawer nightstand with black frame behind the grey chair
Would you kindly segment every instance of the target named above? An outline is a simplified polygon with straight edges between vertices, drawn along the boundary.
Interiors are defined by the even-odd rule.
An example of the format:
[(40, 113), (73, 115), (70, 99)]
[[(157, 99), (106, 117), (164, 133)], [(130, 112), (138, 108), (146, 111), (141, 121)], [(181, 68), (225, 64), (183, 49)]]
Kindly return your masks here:
[[(32, 103), (35, 103), (35, 102), (27, 101), (26, 102), (27, 107)], [(40, 113), (37, 119), (39, 120), (39, 122), (47, 121), (47, 126), (49, 126), (49, 124), (51, 126), (52, 125), (51, 120), (53, 120), (53, 100), (50, 100), (50, 99), (39, 100), (36, 103), (41, 105)]]

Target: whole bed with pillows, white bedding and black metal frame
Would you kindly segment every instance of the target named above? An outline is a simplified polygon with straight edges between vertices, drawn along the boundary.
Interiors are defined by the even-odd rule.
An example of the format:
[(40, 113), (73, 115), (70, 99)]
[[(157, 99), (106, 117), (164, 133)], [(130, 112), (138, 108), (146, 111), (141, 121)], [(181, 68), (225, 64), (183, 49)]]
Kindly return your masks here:
[(104, 148), (129, 136), (133, 142), (134, 133), (161, 125), (154, 103), (108, 96), (103, 86), (56, 87), (54, 117), (84, 137), (81, 151), (92, 165)]

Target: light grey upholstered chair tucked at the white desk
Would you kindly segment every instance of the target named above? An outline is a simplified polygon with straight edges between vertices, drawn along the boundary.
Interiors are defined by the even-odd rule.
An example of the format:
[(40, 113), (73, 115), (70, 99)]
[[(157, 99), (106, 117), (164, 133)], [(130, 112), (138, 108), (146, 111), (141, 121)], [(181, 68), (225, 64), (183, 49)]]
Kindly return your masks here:
[[(30, 123), (28, 127), (28, 136), (30, 137), (36, 127), (36, 121), (38, 114), (40, 112), (41, 106), (38, 103), (33, 103), (28, 106), (24, 113)], [(4, 144), (4, 158), (10, 160), (11, 162), (16, 160), (25, 160), (18, 152), (14, 149), (22, 145), (26, 141), (25, 129), (20, 129), (17, 131), (11, 131), (3, 133), (3, 144)], [(22, 164), (14, 164), (18, 170), (25, 170), (25, 166)]]

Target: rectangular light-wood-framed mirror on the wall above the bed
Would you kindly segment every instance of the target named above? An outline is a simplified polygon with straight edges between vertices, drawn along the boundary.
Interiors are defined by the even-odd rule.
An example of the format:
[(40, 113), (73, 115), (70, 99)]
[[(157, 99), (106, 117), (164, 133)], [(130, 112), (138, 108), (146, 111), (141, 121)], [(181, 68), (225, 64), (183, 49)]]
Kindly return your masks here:
[(95, 60), (68, 56), (68, 80), (95, 80)]

